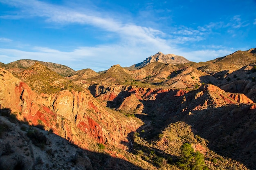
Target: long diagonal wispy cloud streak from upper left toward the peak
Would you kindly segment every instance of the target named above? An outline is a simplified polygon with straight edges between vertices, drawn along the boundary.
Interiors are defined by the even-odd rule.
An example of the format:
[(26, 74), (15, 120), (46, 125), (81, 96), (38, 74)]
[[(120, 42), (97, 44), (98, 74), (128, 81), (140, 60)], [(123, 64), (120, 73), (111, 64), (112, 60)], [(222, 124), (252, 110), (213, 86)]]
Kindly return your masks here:
[[(92, 25), (97, 28), (109, 32), (118, 33), (120, 38), (128, 39), (127, 42), (133, 43), (153, 43), (155, 46), (163, 46), (161, 36), (164, 35), (162, 31), (138, 26), (132, 23), (122, 23), (113, 18), (106, 18), (97, 16), (96, 12), (90, 11), (90, 15), (85, 12), (77, 12), (66, 7), (60, 7), (52, 4), (36, 0), (9, 0), (2, 1), (16, 7), (21, 7), (23, 13), (28, 13), (29, 16), (39, 16), (46, 18), (47, 22), (54, 22), (60, 24), (78, 23), (82, 25)], [(138, 40), (135, 42), (134, 40)]]

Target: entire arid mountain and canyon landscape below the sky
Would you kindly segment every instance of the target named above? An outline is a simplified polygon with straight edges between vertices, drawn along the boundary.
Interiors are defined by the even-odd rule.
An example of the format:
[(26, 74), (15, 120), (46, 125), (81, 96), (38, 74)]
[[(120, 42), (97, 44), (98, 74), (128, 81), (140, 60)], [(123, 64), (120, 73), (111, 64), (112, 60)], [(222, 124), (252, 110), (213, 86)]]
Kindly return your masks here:
[(96, 73), (0, 63), (1, 170), (256, 170), (256, 49)]

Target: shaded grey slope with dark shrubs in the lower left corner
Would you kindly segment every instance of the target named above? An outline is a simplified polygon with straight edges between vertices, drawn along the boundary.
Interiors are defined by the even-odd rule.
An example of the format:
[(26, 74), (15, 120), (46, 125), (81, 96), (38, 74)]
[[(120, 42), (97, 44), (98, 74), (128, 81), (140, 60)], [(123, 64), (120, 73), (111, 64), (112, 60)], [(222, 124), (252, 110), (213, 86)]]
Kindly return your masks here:
[(103, 148), (99, 152), (83, 150), (51, 131), (40, 130), (42, 127), (28, 126), (28, 122), (16, 119), (9, 108), (0, 109), (0, 115), (1, 170), (144, 170), (106, 154)]

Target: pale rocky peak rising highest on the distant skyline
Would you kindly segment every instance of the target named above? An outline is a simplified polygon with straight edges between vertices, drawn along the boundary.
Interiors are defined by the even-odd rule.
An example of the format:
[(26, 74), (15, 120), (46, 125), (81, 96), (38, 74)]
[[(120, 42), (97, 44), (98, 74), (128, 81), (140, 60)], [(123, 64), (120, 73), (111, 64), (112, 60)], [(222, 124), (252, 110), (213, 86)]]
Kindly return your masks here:
[(150, 57), (147, 57), (146, 60), (144, 60), (141, 63), (138, 64), (134, 64), (130, 67), (128, 67), (129, 70), (135, 70), (138, 68), (142, 68), (146, 65), (148, 65), (151, 62), (161, 62), (161, 63), (165, 63), (165, 64), (184, 64), (184, 63), (188, 63), (191, 62), (189, 60), (187, 60), (186, 58), (179, 56), (179, 55), (175, 55), (175, 54), (163, 54), (162, 52), (158, 52), (155, 55), (151, 55)]

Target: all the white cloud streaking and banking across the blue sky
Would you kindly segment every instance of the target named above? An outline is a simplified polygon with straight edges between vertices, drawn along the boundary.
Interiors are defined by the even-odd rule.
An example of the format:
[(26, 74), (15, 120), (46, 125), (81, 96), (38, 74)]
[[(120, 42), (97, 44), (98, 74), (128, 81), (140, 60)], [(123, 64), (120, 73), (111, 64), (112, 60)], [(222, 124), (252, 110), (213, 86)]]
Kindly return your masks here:
[[(121, 66), (131, 66), (142, 62), (146, 57), (162, 51), (163, 53), (175, 53), (182, 55), (188, 60), (199, 62), (204, 58), (212, 60), (214, 57), (223, 56), (233, 51), (218, 50), (194, 50), (182, 52), (177, 49), (177, 44), (186, 42), (198, 42), (204, 40), (211, 32), (211, 29), (218, 29), (224, 24), (222, 22), (209, 23), (199, 26), (198, 30), (186, 26), (172, 27), (169, 33), (150, 27), (139, 26), (132, 22), (125, 22), (97, 13), (90, 9), (84, 11), (74, 10), (68, 7), (47, 4), (37, 0), (0, 0), (6, 4), (21, 8), (19, 17), (41, 17), (46, 22), (60, 25), (80, 24), (91, 25), (119, 35), (120, 42), (115, 44), (105, 44), (98, 46), (76, 47), (69, 52), (64, 52), (50, 47), (32, 46), (33, 50), (17, 50), (11, 48), (0, 49), (3, 59), (7, 61), (20, 59), (35, 59), (67, 65), (75, 70), (92, 68), (95, 71), (102, 71), (110, 68), (114, 64)], [(108, 16), (108, 17), (106, 17)], [(15, 19), (11, 15), (5, 15), (5, 19)], [(239, 17), (234, 18), (240, 22)], [(169, 40), (167, 38), (170, 38)], [(0, 39), (1, 40), (1, 39)], [(28, 49), (28, 48), (27, 48)], [(1, 61), (1, 62), (4, 62)], [(5, 62), (6, 63), (6, 62)], [(79, 63), (79, 64), (78, 64)]]

